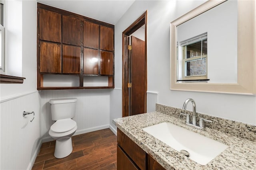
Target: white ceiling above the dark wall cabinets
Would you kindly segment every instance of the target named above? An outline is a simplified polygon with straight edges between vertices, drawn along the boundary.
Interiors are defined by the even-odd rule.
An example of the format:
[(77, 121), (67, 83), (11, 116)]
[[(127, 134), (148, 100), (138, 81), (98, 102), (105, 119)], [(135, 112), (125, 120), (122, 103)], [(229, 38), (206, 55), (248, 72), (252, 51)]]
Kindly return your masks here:
[(37, 0), (82, 16), (116, 24), (135, 0)]

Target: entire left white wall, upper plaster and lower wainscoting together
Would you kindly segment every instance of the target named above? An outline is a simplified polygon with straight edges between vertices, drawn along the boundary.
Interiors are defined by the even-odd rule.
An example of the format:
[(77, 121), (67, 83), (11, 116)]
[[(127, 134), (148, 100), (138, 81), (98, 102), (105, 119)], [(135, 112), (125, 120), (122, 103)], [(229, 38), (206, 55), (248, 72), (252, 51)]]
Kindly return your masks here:
[[(6, 1), (6, 5), (6, 73), (26, 79), (23, 84), (0, 85), (0, 169), (27, 169), (32, 167), (30, 161), (36, 156), (41, 137), (41, 102), (36, 91), (36, 1)], [(34, 111), (35, 119), (30, 122), (33, 115), (24, 118), (23, 111)]]

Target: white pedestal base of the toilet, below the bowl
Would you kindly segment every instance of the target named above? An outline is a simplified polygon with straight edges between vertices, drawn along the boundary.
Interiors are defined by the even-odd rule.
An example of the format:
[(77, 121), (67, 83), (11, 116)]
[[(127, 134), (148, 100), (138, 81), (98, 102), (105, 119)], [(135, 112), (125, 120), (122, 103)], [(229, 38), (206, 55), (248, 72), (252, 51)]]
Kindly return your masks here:
[[(68, 138), (68, 139), (67, 139)], [(64, 158), (72, 152), (72, 139), (71, 137), (66, 137), (56, 140), (54, 157), (55, 158)]]

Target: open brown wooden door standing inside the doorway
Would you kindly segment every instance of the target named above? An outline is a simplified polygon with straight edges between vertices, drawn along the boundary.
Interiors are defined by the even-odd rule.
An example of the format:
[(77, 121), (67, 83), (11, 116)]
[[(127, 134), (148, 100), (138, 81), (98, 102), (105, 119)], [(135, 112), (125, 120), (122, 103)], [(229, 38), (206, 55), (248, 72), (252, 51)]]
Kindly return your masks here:
[(131, 36), (130, 50), (130, 115), (146, 113), (145, 41)]

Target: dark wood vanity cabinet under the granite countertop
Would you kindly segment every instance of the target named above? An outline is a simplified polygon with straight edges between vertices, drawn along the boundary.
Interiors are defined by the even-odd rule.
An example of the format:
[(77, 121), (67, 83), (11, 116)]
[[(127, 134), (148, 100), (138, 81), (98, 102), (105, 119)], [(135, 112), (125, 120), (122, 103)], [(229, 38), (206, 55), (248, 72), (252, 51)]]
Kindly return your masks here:
[(120, 129), (117, 144), (117, 170), (165, 170)]

